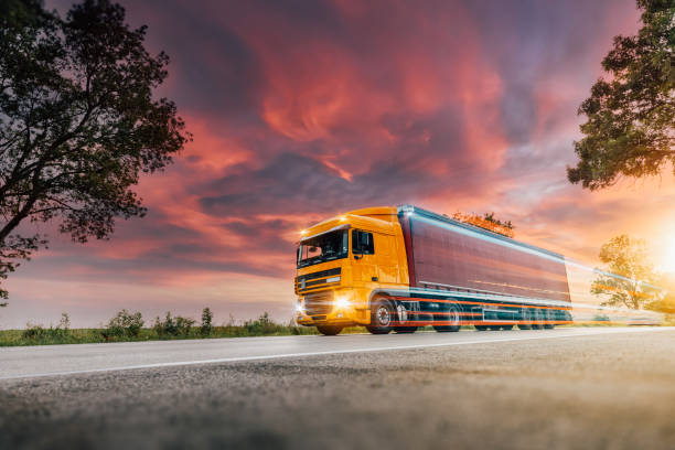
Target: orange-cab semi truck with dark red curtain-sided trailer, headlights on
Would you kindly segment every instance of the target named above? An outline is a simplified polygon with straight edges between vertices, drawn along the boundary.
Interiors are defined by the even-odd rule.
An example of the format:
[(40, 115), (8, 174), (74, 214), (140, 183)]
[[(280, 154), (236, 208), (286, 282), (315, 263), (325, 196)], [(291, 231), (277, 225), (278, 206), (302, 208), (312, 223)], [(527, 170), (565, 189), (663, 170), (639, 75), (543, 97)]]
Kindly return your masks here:
[(301, 232), (297, 323), (335, 335), (571, 323), (565, 257), (414, 206), (351, 211)]

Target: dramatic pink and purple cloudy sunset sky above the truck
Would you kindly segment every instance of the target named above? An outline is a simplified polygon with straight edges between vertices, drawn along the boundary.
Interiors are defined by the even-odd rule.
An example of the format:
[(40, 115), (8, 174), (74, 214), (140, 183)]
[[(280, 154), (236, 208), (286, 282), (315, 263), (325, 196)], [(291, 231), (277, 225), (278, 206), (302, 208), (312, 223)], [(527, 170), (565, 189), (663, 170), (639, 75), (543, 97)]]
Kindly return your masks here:
[(634, 0), (121, 4), (171, 57), (157, 95), (194, 140), (141, 180), (149, 214), (110, 240), (52, 232), (8, 280), (0, 328), (206, 306), (216, 323), (286, 321), (298, 232), (375, 205), (495, 212), (517, 239), (591, 265), (625, 233), (675, 270), (672, 171), (600, 192), (566, 178), (577, 108), (612, 38), (639, 29)]

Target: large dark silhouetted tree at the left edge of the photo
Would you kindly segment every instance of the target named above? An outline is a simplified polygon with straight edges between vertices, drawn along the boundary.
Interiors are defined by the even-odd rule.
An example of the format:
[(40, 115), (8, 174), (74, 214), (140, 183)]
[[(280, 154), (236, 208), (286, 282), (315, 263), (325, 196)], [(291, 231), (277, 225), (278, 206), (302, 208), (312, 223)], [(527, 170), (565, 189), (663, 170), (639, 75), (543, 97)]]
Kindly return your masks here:
[(151, 56), (144, 36), (108, 0), (65, 19), (39, 0), (1, 2), (0, 279), (46, 244), (22, 223), (55, 221), (86, 243), (108, 238), (116, 218), (143, 216), (140, 174), (191, 139), (175, 105), (152, 96), (169, 57)]

